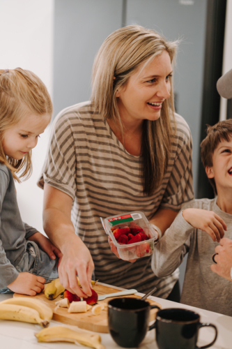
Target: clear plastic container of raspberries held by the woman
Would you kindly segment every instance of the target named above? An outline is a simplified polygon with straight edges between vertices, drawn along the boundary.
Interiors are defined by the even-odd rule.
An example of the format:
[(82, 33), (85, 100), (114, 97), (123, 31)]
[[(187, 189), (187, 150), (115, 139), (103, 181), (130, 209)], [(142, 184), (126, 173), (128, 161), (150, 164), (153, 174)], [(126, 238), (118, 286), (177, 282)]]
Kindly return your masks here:
[[(101, 221), (105, 232), (111, 237), (111, 240), (114, 242), (114, 245), (118, 250), (119, 257), (122, 260), (134, 260), (153, 254), (154, 245), (157, 243), (159, 236), (143, 212), (126, 212), (105, 219), (101, 218)], [(146, 235), (146, 237), (144, 235), (143, 237), (146, 239), (139, 242), (130, 242), (131, 236), (134, 235), (135, 237), (135, 235), (140, 232), (138, 227), (143, 230)], [(125, 229), (121, 230), (121, 228)], [(130, 230), (128, 230), (128, 228), (130, 228)], [(130, 238), (128, 239), (128, 242), (122, 242), (123, 238), (116, 239), (119, 234), (118, 232), (121, 231), (126, 231), (123, 235), (127, 235), (127, 237)], [(129, 235), (130, 233), (131, 235)], [(141, 233), (139, 235), (141, 235)], [(137, 238), (135, 237), (132, 241), (134, 240), (137, 240)]]

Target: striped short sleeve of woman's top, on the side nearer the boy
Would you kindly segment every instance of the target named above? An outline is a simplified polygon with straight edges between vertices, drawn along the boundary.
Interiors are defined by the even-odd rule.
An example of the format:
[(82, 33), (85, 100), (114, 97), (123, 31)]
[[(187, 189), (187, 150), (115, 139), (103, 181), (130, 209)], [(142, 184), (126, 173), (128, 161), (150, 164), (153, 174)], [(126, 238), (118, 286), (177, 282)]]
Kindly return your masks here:
[(160, 207), (180, 210), (194, 198), (192, 177), (192, 135), (186, 121), (178, 115), (171, 142), (169, 182)]

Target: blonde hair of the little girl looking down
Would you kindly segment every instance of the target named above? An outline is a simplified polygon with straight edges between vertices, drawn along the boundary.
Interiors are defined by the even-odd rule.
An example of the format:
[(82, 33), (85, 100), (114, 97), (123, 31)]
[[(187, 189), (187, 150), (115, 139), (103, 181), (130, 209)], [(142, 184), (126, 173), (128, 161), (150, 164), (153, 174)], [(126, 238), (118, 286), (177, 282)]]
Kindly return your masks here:
[(9, 128), (15, 126), (25, 110), (37, 114), (49, 114), (52, 117), (52, 101), (40, 78), (29, 70), (15, 68), (0, 70), (0, 163), (6, 165), (13, 177), (28, 178), (32, 172), (31, 151), (24, 158), (15, 160), (6, 156), (3, 151), (3, 135)]

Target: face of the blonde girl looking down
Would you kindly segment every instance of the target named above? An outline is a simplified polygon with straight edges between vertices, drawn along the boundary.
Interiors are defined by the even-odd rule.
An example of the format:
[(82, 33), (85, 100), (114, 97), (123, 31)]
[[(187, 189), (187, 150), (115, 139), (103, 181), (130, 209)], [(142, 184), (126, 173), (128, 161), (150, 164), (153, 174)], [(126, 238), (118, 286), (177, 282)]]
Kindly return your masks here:
[(49, 114), (24, 116), (15, 126), (3, 133), (3, 151), (7, 156), (22, 159), (36, 147), (40, 133), (45, 131), (51, 116)]

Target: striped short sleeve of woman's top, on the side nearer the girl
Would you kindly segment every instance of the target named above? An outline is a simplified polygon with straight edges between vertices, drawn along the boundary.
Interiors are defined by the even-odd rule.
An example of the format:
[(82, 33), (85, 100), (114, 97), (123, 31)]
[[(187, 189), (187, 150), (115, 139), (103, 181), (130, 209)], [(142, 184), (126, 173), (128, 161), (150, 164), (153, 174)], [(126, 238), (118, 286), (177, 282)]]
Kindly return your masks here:
[(52, 126), (49, 148), (38, 186), (44, 183), (70, 195), (76, 193), (76, 154), (72, 134), (72, 121), (77, 119), (74, 113), (58, 115)]

